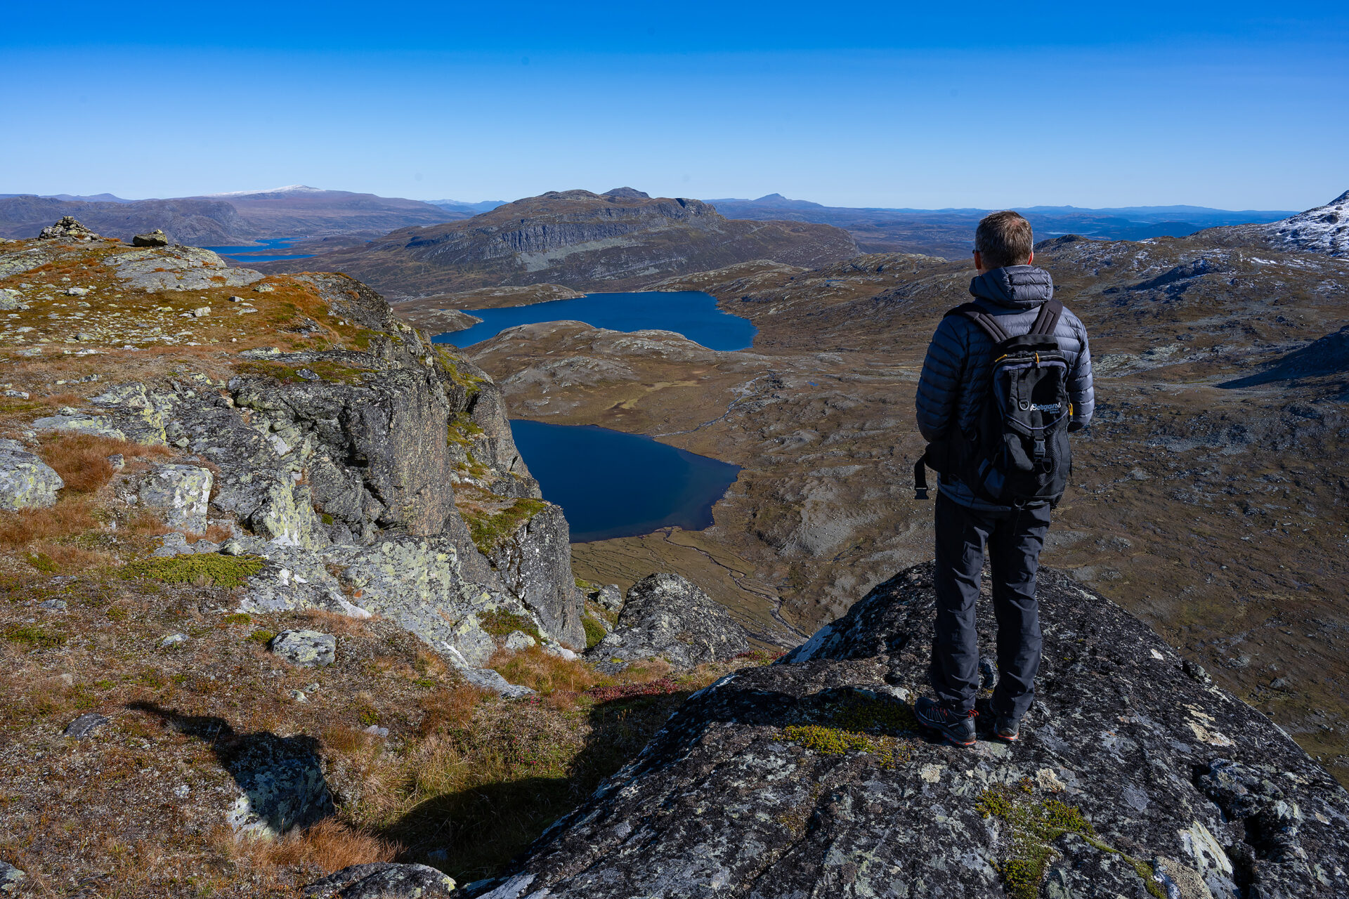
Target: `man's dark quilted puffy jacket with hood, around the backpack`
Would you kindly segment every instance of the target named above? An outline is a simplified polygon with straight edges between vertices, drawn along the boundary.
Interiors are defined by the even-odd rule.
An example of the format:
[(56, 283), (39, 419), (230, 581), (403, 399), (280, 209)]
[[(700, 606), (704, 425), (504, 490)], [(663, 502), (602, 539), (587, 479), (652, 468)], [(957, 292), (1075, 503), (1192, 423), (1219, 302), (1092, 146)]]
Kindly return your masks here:
[[(1009, 334), (1025, 334), (1035, 323), (1040, 303), (1054, 297), (1050, 272), (1035, 266), (994, 268), (970, 282), (970, 294)], [(1063, 310), (1054, 332), (1059, 349), (1068, 360), (1068, 396), (1072, 422), (1068, 430), (1081, 430), (1091, 421), (1095, 392), (1091, 387), (1091, 350), (1082, 321)], [(947, 315), (938, 325), (923, 360), (919, 379), (919, 431), (928, 442), (971, 433), (987, 392), (993, 363), (993, 341), (983, 329), (965, 315)], [(952, 492), (943, 477), (943, 492), (966, 505), (967, 489)], [(960, 485), (963, 487), (963, 485)], [(956, 495), (959, 493), (959, 495)]]

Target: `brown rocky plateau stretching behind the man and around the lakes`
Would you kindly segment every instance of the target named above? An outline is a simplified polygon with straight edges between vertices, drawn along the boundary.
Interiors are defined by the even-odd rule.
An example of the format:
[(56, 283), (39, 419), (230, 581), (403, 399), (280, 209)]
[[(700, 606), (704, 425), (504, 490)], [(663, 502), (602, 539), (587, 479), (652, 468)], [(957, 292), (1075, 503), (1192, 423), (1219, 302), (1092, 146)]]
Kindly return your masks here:
[[(1036, 251), (1091, 332), (1098, 396), (1045, 558), (1346, 780), (1349, 360), (1337, 332), (1349, 261), (1206, 235)], [(622, 585), (680, 571), (788, 644), (931, 558), (931, 504), (912, 491), (913, 391), (971, 275), (897, 253), (750, 261), (652, 287), (704, 290), (750, 318), (749, 350), (552, 322), (469, 353), (515, 416), (650, 434), (743, 466), (714, 527), (576, 545), (573, 565)]]

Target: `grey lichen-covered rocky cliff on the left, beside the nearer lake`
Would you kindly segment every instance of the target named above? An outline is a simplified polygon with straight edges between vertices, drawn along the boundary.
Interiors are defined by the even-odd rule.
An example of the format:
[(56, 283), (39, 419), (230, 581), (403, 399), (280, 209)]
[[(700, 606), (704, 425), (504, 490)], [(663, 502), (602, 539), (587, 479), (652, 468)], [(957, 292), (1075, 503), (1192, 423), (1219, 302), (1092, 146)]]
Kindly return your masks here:
[[(123, 380), (100, 387), (88, 404), (30, 419), (28, 441), (85, 434), (181, 453), (181, 464), (127, 476), (119, 488), (124, 501), (163, 509), (177, 528), (156, 557), (258, 557), (263, 565), (247, 576), (237, 598), (241, 612), (383, 615), (471, 681), (498, 691), (521, 689), (483, 667), (498, 646), (484, 617), (514, 616), (558, 654), (584, 646), (567, 522), (538, 499), (496, 387), (482, 371), (433, 346), (398, 321), (383, 298), (341, 275), (259, 283), (263, 275), (227, 268), (209, 251), (127, 249), (97, 236), (96, 249), (85, 251), (90, 239), (84, 232), (70, 235), (69, 225), (57, 230), (38, 245), (0, 255), (0, 272), (38, 282), (12, 288), (15, 305), (27, 313), (19, 321), (66, 306), (55, 297), (86, 298), (80, 306), (88, 311), (74, 313), (85, 329), (76, 334), (85, 359), (177, 342), (144, 322), (127, 330), (125, 306), (136, 294), (154, 294), (156, 311), (177, 314), (167, 298), (194, 292), (193, 303), (219, 309), (231, 303), (197, 291), (254, 287), (248, 299), (228, 298), (236, 301), (229, 310), (235, 321), (224, 319), (228, 333), (246, 333), (236, 326), (239, 317), (262, 311), (266, 325), (281, 321), (293, 329), (279, 329), (291, 344), (297, 334), (321, 336), (289, 352), (254, 346), (224, 353), (227, 371), (214, 377), (197, 371)], [(86, 283), (105, 283), (57, 291), (42, 282), (45, 268), (71, 261)], [(310, 311), (295, 315), (301, 297)], [(277, 306), (279, 318), (268, 311)], [(201, 306), (182, 314), (202, 328), (212, 323), (210, 311)], [(49, 321), (59, 317), (51, 313)], [(15, 342), (51, 352), (42, 342), (45, 332), (12, 330), (13, 323)], [(341, 341), (333, 326), (351, 338)], [(123, 340), (134, 342), (117, 350)], [(54, 473), (43, 480), (34, 461), (22, 457), (22, 445), (5, 446), (5, 470), (22, 481), (9, 491), (13, 503), (40, 504)], [(183, 538), (208, 527), (220, 536)]]

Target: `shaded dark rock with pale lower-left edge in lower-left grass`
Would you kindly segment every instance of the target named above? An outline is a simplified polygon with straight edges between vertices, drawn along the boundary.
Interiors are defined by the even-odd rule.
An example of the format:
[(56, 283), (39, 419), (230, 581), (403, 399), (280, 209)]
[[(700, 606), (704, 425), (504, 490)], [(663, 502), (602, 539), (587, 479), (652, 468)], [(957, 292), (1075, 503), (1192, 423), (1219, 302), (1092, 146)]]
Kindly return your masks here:
[(333, 814), (316, 745), (312, 737), (256, 733), (220, 751), (241, 791), (227, 815), (236, 833), (271, 838)]

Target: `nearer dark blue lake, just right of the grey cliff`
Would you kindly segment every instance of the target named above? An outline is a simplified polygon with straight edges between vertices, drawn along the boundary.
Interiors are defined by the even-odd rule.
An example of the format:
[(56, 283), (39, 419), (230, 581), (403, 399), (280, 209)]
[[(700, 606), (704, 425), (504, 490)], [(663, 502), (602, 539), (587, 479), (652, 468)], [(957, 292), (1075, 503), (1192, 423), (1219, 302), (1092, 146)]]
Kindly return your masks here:
[(712, 523), (712, 504), (741, 470), (594, 425), (511, 419), (510, 430), (544, 499), (563, 507), (572, 543), (637, 536), (661, 527), (700, 531)]

